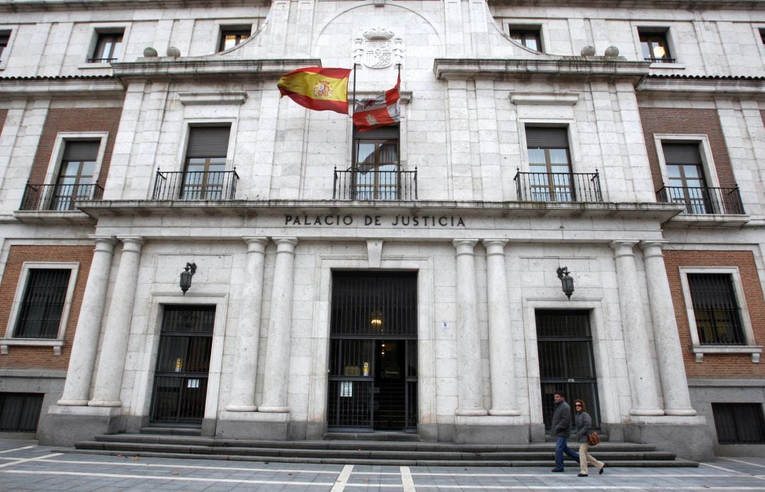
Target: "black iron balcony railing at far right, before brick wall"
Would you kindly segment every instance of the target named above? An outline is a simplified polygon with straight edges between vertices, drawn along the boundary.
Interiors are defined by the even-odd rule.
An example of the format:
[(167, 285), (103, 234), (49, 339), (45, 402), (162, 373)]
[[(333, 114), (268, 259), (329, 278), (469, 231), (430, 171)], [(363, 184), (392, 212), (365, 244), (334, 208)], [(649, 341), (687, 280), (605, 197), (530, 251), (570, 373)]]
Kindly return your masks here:
[(656, 201), (682, 203), (688, 215), (744, 215), (744, 204), (738, 186), (732, 188), (692, 188), (663, 186), (656, 192)]

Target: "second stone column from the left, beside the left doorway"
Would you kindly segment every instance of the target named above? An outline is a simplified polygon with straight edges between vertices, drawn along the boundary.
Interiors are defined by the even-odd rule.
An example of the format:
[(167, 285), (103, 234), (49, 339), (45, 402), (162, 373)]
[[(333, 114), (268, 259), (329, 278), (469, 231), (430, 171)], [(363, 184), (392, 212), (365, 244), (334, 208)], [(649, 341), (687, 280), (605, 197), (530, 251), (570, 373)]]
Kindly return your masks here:
[(122, 389), (122, 372), (125, 370), (125, 355), (128, 351), (143, 238), (126, 237), (119, 240), (122, 241), (122, 257), (112, 292), (112, 304), (109, 306), (109, 319), (101, 342), (96, 387), (89, 406), (122, 406), (119, 391)]

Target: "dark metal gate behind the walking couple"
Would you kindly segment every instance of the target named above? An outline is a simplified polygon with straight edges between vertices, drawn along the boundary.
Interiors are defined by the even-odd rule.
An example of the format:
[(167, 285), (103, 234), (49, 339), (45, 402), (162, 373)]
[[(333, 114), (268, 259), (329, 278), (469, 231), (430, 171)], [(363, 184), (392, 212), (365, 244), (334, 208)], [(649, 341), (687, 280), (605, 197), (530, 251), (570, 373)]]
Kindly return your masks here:
[(538, 309), (535, 314), (545, 429), (551, 428), (555, 391), (565, 393), (572, 411), (575, 399), (584, 400), (592, 425), (600, 427), (590, 312)]

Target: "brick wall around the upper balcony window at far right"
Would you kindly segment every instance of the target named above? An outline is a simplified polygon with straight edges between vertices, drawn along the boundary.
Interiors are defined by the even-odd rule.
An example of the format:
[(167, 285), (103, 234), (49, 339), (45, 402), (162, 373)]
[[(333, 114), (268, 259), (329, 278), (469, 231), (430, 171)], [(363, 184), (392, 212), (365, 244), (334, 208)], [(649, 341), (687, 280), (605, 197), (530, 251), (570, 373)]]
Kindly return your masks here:
[[(707, 135), (720, 186), (736, 186), (728, 147), (725, 147), (720, 118), (715, 109), (640, 108), (640, 119), (643, 122), (653, 185), (657, 190), (665, 183), (662, 183), (659, 157), (656, 155), (656, 144), (653, 141), (653, 134), (656, 133)], [(707, 183), (707, 186), (711, 186), (711, 183)]]

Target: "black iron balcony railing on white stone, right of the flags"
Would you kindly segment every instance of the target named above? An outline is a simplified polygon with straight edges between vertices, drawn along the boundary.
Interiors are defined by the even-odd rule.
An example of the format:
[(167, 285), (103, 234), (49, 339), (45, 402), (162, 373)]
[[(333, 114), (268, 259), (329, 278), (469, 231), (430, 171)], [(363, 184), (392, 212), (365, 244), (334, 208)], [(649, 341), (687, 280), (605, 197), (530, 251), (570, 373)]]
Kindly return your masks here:
[(601, 177), (594, 173), (521, 173), (515, 177), (519, 202), (602, 202)]

